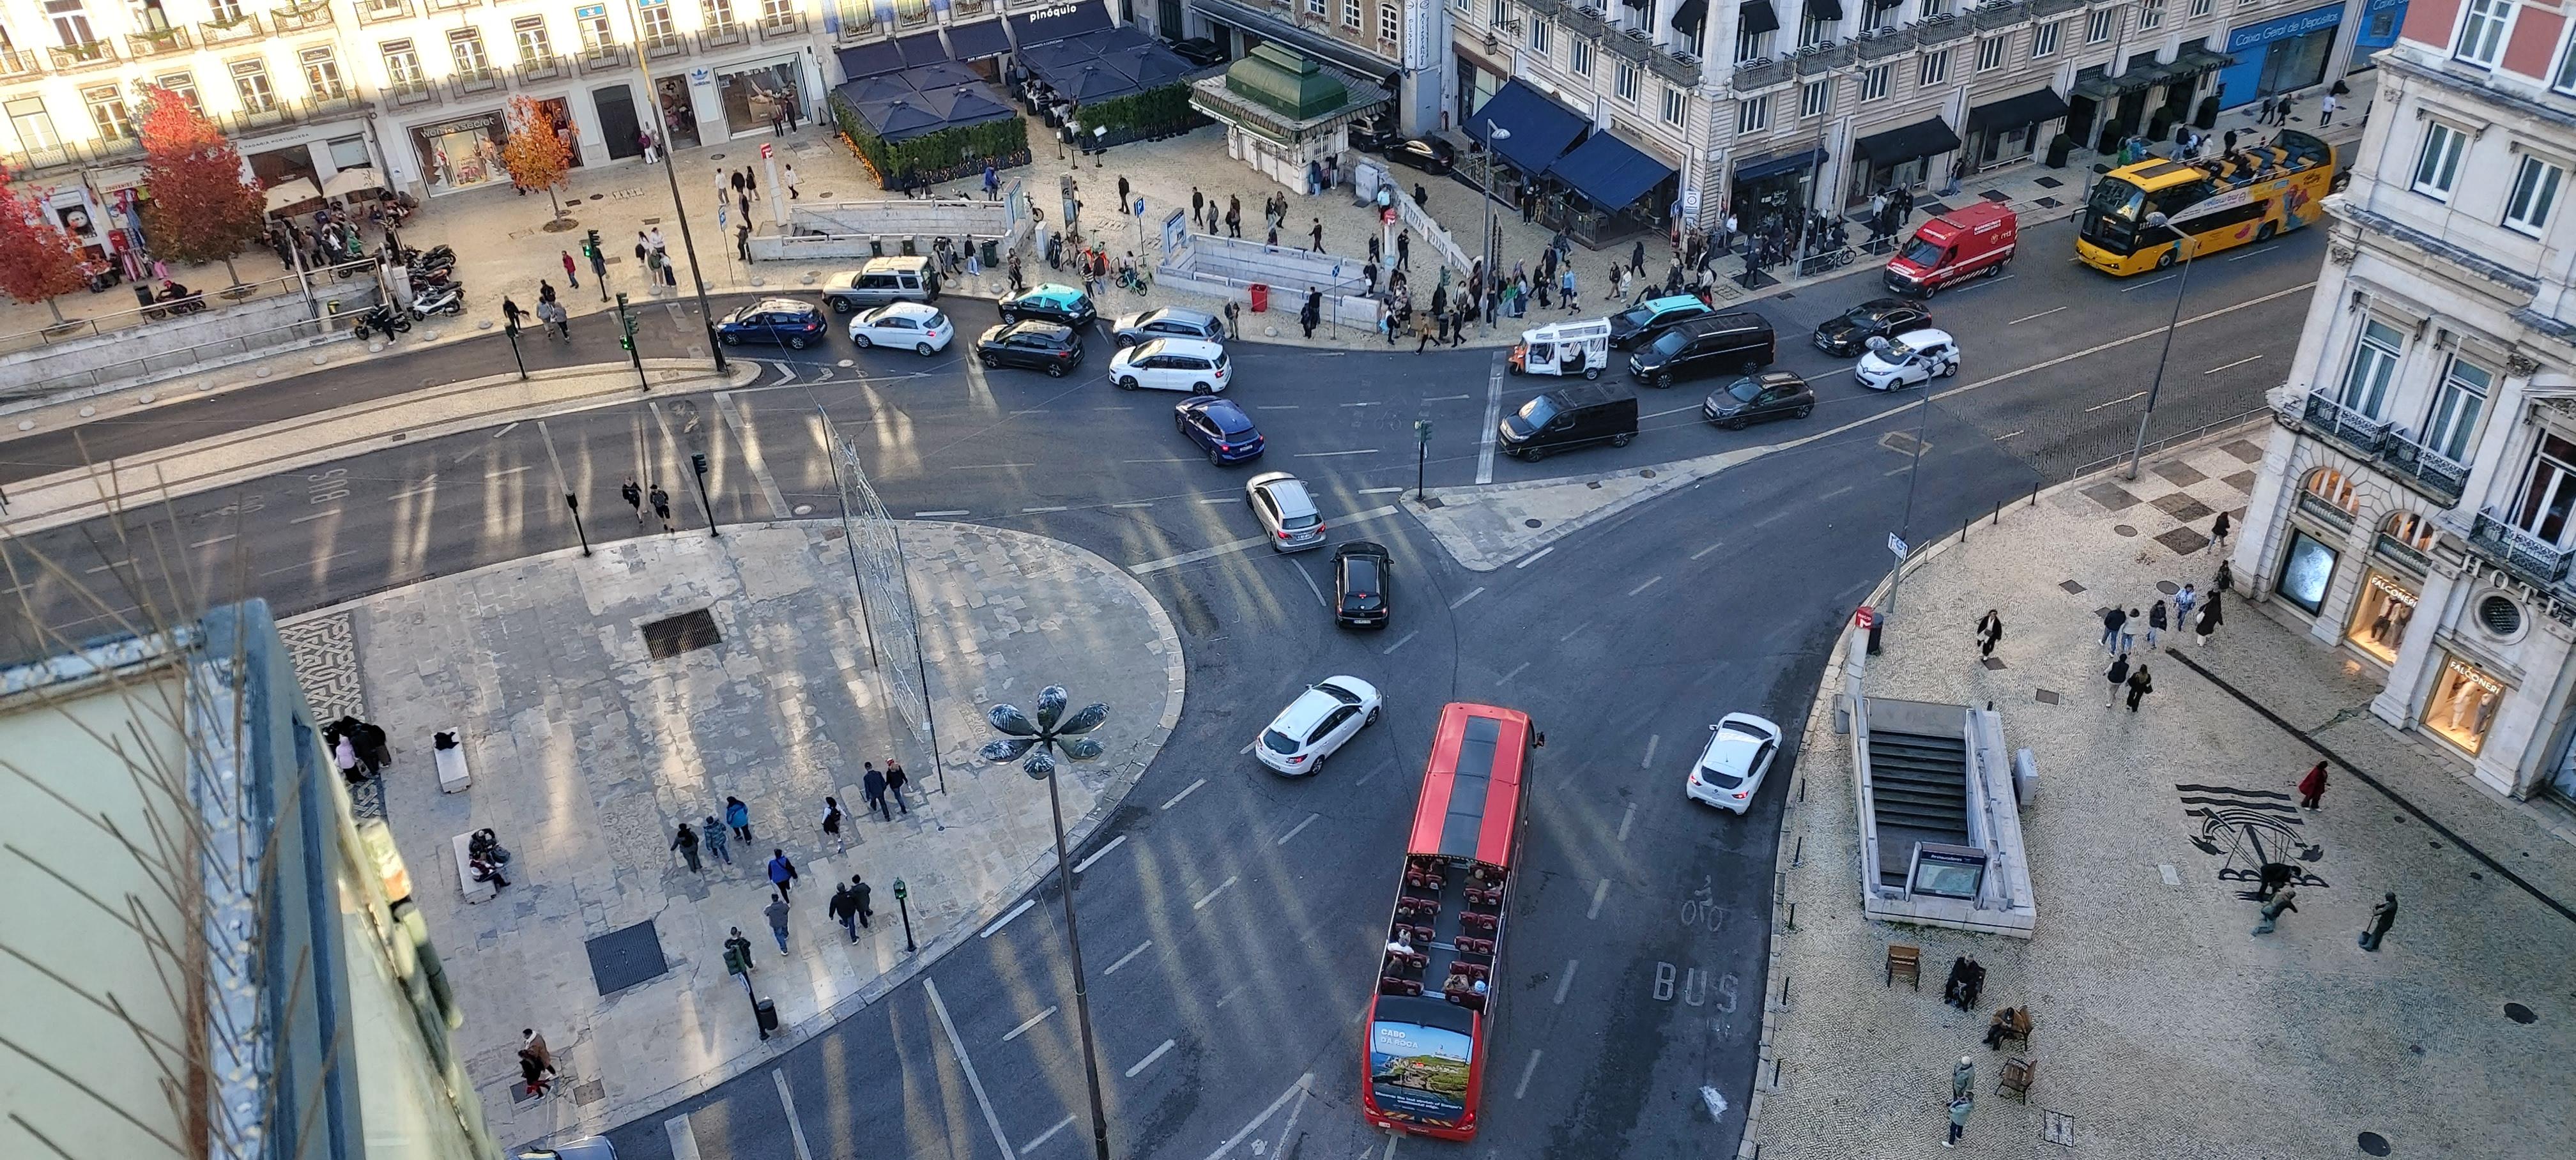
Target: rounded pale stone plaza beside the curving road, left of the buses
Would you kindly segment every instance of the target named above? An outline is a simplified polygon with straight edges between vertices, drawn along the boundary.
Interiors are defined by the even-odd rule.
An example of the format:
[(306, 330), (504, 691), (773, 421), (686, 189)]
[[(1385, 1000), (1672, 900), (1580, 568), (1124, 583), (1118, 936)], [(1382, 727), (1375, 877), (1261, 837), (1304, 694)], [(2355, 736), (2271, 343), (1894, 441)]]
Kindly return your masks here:
[[(1046, 683), (1108, 701), (1108, 753), (1064, 781), (1090, 833), (1170, 737), (1180, 639), (1151, 595), (1090, 552), (958, 523), (904, 523), (945, 760), (871, 668), (840, 528), (659, 536), (412, 585), (286, 626), (317, 714), (363, 711), (394, 742), (384, 807), (466, 1010), (459, 1047), (500, 1139), (598, 1129), (775, 1057), (935, 959), (1054, 866), (1046, 794), (981, 766), (981, 711)], [(641, 626), (708, 611), (719, 642), (654, 660)], [(430, 732), (461, 730), (474, 786), (440, 794)], [(904, 760), (909, 815), (860, 815), (860, 760)], [(940, 791), (938, 768), (945, 768)], [(752, 843), (690, 874), (675, 825), (752, 809)], [(822, 799), (848, 809), (824, 840)], [(466, 905), (451, 838), (495, 827), (510, 887)], [(762, 864), (796, 861), (791, 954), (770, 941)], [(878, 920), (850, 943), (824, 915), (866, 874)], [(894, 879), (912, 892), (904, 954)], [(786, 1034), (757, 1039), (721, 941), (755, 943)], [(618, 933), (639, 982), (605, 980)], [(654, 962), (659, 956), (659, 964)], [(616, 956), (611, 956), (616, 959)], [(621, 985), (623, 982), (623, 985)], [(544, 1029), (562, 1083), (513, 1101), (518, 1031)]]

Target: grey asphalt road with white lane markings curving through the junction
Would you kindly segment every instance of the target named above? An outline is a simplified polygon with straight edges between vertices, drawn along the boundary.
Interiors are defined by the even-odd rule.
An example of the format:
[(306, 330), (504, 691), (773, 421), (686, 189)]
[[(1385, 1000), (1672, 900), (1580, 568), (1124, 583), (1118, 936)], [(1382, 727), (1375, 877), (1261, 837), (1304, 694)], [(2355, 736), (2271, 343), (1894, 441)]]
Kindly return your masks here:
[[(2321, 250), (2324, 237), (2303, 232), (2192, 273), (2159, 433), (2262, 405), (2293, 353)], [(1747, 817), (1687, 804), (1680, 778), (1723, 711), (1759, 711), (1795, 737), (1832, 634), (1883, 575), (1883, 541), (1909, 498), (1911, 534), (1927, 539), (2128, 446), (2174, 281), (2110, 281), (2063, 263), (2063, 227), (2030, 229), (2025, 253), (2009, 276), (1932, 304), (1968, 366), (1929, 407), (1919, 477), (1901, 436), (1917, 415), (1891, 415), (1481, 575), (1448, 562), (1409, 516), (1370, 516), (1414, 479), (1404, 451), (1417, 418), (1435, 425), (1432, 485), (1466, 485), (1486, 472), (1582, 477), (1888, 415), (1919, 394), (1862, 392), (1847, 361), (1803, 343), (1821, 317), (1875, 296), (1875, 271), (1757, 307), (1780, 327), (1780, 366), (1819, 387), (1806, 423), (1723, 433), (1692, 418), (1705, 387), (1646, 392), (1633, 446), (1546, 464), (1484, 451), (1484, 415), (1548, 384), (1499, 376), (1492, 351), (1236, 345), (1234, 397), (1270, 438), (1262, 469), (1316, 485), (1334, 539), (1394, 549), (1396, 626), (1332, 629), (1321, 552), (1218, 552), (1141, 572), (1180, 624), (1193, 688), (1162, 758), (1082, 853), (1097, 853), (1077, 900), (1118, 1152), (1386, 1147), (1352, 1108), (1358, 1013), (1430, 722), (1448, 699), (1528, 709), (1548, 730), (1473, 1155), (1731, 1152), (1767, 985), (1772, 835), (1798, 755), (1783, 755)], [(979, 302), (945, 307), (969, 335), (992, 317)], [(680, 353), (688, 325), (665, 312), (647, 340)], [(489, 374), (495, 343), (201, 400), (82, 438), (134, 451)], [(582, 495), (595, 541), (639, 534), (616, 500), (629, 472), (670, 485), (688, 531), (703, 534), (690, 451), (714, 461), (719, 521), (822, 518), (837, 513), (837, 492), (811, 433), (817, 407), (858, 443), (896, 516), (1018, 526), (1131, 567), (1255, 531), (1239, 500), (1247, 472), (1206, 464), (1170, 428), (1170, 394), (984, 374), (953, 356), (858, 356), (840, 340), (781, 356), (757, 353), (762, 379), (734, 392), (407, 443), (180, 498), (124, 528), (8, 541), (13, 572), (0, 575), (72, 637), (108, 632), (137, 598), (258, 593), (291, 614), (569, 546), (564, 490)], [(1095, 343), (1087, 366), (1103, 363)], [(64, 438), (15, 441), (0, 446), (0, 477), (72, 456)], [(8, 655), (33, 647), (23, 621), (5, 629)], [(1311, 778), (1273, 778), (1242, 755), (1298, 686), (1332, 673), (1386, 688), (1386, 717)], [(616, 1129), (618, 1152), (688, 1155), (675, 1152), (675, 1129), (706, 1160), (804, 1160), (799, 1134), (817, 1157), (1082, 1152), (1056, 889), (775, 1067)], [(1726, 1101), (1716, 1121), (1703, 1085)], [(1401, 1150), (1468, 1152), (1419, 1139)]]

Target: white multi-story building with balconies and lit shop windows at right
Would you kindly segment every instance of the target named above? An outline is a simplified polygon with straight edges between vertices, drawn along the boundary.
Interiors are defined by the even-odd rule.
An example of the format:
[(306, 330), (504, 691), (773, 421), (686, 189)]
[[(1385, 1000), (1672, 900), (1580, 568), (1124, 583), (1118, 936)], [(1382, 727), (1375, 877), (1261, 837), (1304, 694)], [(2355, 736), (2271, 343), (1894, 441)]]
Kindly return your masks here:
[(2478, 781), (2576, 797), (2568, 15), (2414, 0), (2264, 454), (2239, 585)]

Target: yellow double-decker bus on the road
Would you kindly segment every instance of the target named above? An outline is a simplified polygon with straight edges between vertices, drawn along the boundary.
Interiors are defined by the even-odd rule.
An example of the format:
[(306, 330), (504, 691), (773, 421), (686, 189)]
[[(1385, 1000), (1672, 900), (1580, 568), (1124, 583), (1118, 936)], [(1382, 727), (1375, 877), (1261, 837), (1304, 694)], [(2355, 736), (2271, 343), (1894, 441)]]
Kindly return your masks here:
[[(2298, 129), (2226, 157), (2120, 165), (2094, 183), (2076, 214), (2076, 258), (2102, 273), (2130, 276), (2269, 242), (2324, 217), (2321, 198), (2331, 186), (2334, 147)], [(2172, 229), (2151, 227), (2148, 214), (2164, 214)]]

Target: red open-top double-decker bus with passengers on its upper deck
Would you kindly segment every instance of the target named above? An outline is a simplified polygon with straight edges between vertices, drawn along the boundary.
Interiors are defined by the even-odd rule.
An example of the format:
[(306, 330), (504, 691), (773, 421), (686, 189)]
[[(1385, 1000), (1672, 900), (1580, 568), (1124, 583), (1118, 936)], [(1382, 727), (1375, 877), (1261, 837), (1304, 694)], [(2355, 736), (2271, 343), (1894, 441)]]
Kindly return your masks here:
[(1368, 1003), (1360, 1108), (1373, 1126), (1476, 1137), (1533, 737), (1517, 709), (1440, 709)]

